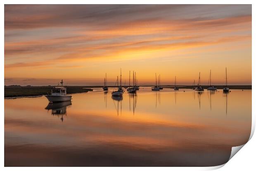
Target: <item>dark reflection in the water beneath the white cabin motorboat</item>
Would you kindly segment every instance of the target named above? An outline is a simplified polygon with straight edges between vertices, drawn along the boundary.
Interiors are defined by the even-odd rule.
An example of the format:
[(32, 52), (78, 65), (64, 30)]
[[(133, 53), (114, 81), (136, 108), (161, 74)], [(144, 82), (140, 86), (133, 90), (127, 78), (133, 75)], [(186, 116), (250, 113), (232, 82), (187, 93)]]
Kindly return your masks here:
[(52, 115), (62, 116), (60, 120), (63, 122), (63, 115), (66, 114), (66, 107), (71, 106), (71, 101), (59, 102), (59, 103), (49, 103), (45, 109), (52, 110)]

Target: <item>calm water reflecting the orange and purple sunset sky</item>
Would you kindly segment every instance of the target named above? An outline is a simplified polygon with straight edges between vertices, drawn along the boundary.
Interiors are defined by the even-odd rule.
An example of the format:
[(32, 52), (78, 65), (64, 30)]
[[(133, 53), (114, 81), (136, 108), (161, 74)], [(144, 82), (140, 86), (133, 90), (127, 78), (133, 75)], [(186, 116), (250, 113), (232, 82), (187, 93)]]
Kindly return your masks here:
[(228, 94), (140, 87), (5, 99), (5, 166), (216, 166), (251, 133), (251, 90)]

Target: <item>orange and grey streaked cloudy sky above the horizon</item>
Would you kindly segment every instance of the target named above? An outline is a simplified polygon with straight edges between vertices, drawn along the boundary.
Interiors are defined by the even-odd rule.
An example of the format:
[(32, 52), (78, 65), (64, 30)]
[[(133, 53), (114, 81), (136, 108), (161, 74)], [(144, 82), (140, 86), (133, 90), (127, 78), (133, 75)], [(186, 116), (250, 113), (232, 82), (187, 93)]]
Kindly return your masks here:
[(5, 5), (5, 85), (251, 85), (251, 5)]

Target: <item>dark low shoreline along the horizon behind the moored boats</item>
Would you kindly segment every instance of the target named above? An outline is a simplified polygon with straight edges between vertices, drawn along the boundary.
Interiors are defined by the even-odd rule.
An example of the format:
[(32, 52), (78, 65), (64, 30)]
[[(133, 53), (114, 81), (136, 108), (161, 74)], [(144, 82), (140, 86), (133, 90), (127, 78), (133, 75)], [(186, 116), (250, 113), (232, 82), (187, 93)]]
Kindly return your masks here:
[[(155, 85), (141, 85), (141, 87), (154, 87)], [(15, 99), (22, 97), (40, 97), (50, 93), (55, 86), (5, 86), (5, 99)], [(116, 86), (108, 86), (114, 88)], [(174, 88), (173, 85), (161, 85), (163, 88)], [(192, 89), (193, 85), (179, 85), (179, 88)], [(207, 89), (208, 85), (202, 85)], [(215, 85), (218, 89), (223, 89), (225, 85)], [(228, 85), (230, 89), (251, 90), (251, 85)], [(102, 88), (102, 86), (66, 86), (67, 94), (93, 91), (92, 88)]]

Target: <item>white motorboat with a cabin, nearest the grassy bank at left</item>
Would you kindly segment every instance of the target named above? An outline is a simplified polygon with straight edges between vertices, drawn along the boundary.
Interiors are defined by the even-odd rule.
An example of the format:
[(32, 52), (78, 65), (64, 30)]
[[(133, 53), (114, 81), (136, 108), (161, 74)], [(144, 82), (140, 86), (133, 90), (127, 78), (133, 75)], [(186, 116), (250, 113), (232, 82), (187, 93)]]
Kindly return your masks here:
[[(60, 82), (63, 84), (63, 80)], [(66, 95), (66, 88), (63, 86), (56, 86), (51, 89), (51, 95), (45, 95), (50, 103), (71, 101), (71, 95)]]

